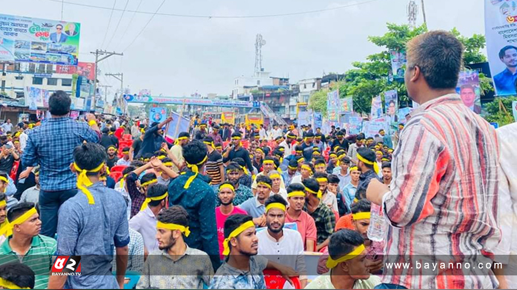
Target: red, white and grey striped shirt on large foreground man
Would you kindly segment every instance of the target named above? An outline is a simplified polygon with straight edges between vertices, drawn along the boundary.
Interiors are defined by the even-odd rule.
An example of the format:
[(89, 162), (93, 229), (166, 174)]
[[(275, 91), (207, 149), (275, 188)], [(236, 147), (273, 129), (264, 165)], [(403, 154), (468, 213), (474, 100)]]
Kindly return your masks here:
[[(438, 260), (448, 263), (490, 252), (494, 245), (487, 240), (500, 236), (498, 156), (494, 128), (459, 95), (444, 95), (416, 109), (401, 133), (391, 192), (384, 197), (385, 211), (396, 226), (387, 234), (388, 257), (439, 255)], [(454, 286), (493, 287), (488, 272), (473, 268), (470, 276), (455, 279)], [(386, 275), (383, 282), (436, 288), (437, 280), (433, 275), (407, 280)]]

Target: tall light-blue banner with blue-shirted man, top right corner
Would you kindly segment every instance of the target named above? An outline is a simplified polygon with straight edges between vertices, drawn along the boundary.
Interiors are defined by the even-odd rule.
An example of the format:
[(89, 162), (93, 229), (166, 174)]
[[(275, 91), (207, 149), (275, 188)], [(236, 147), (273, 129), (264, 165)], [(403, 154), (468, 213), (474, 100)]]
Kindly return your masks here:
[(484, 0), (486, 52), (496, 95), (514, 95), (517, 70), (517, 1)]

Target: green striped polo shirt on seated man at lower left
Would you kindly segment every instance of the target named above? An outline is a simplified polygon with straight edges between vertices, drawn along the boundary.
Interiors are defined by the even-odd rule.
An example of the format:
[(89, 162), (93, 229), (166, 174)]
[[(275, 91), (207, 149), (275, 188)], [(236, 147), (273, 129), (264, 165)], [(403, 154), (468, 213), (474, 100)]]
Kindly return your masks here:
[(49, 273), (52, 268), (52, 255), (56, 253), (57, 242), (53, 238), (36, 235), (32, 239), (31, 247), (23, 256), (18, 255), (9, 246), (9, 240), (0, 246), (0, 265), (10, 262), (20, 262), (35, 273), (35, 289), (46, 289), (49, 284)]

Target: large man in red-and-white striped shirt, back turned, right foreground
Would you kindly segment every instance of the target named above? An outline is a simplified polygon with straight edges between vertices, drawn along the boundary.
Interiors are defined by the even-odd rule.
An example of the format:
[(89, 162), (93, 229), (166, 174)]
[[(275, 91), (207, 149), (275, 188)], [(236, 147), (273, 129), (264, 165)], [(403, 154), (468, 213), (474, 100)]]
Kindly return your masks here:
[[(479, 266), (492, 263), (500, 238), (498, 141), (494, 128), (456, 94), (462, 52), (462, 44), (445, 31), (407, 44), (405, 83), (420, 106), (393, 153), (390, 188), (372, 180), (367, 197), (383, 206), (390, 224), (384, 262), (408, 262), (412, 268), (388, 269), (386, 263), (381, 286), (498, 286), (493, 271)], [(437, 267), (418, 269), (424, 262)]]

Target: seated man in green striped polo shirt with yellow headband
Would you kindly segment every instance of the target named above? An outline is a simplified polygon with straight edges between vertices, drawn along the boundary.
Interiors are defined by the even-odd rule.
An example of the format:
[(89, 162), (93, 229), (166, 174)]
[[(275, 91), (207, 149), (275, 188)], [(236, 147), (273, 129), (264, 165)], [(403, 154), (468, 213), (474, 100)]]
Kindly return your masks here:
[[(0, 265), (9, 262), (27, 265), (36, 275), (34, 288), (45, 289), (49, 283), (52, 255), (56, 253), (57, 242), (53, 238), (39, 234), (41, 221), (33, 208), (34, 203), (23, 202), (9, 210), (8, 220), (17, 224), (12, 229), (12, 236), (0, 246)], [(34, 213), (28, 213), (29, 211)]]

